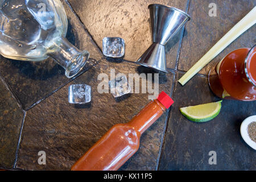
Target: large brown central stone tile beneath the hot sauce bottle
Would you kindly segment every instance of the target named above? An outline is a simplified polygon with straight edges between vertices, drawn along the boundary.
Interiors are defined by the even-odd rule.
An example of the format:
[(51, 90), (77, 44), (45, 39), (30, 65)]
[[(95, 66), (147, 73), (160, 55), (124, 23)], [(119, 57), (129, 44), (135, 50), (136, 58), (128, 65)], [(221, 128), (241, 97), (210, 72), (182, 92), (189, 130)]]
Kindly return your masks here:
[[(118, 61), (117, 61), (118, 62)], [(64, 86), (46, 100), (27, 111), (17, 167), (22, 169), (69, 169), (92, 145), (116, 123), (125, 123), (148, 102), (148, 93), (133, 93), (115, 100), (111, 93), (98, 93), (100, 73), (155, 73), (150, 69), (115, 60), (102, 60)], [(128, 77), (128, 76), (127, 76)], [(109, 78), (110, 79), (110, 78)], [(172, 73), (159, 75), (159, 90), (170, 93)], [(68, 103), (68, 86), (92, 86), (92, 102), (86, 105)], [(153, 84), (154, 85), (154, 84)], [(150, 94), (151, 95), (151, 94)], [(166, 113), (167, 114), (167, 113)], [(158, 119), (141, 137), (141, 147), (121, 169), (146, 170), (156, 168), (164, 133), (166, 114)], [(46, 166), (37, 163), (38, 152), (46, 151)]]

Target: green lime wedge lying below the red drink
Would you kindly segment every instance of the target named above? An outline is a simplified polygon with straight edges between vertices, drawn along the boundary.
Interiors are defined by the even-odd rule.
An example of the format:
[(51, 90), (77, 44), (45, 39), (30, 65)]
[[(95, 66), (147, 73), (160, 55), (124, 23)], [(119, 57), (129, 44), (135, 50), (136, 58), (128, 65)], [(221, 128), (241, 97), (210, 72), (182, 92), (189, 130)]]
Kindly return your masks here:
[(181, 114), (186, 118), (195, 122), (206, 122), (215, 118), (221, 110), (221, 102), (212, 102), (197, 106), (189, 106), (180, 108)]

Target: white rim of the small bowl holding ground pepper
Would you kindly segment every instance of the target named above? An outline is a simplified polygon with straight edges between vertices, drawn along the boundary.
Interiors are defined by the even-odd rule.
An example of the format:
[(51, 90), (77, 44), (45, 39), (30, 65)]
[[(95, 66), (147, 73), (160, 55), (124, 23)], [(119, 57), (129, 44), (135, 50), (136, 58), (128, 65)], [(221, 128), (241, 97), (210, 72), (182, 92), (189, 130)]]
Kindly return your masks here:
[(240, 127), (240, 132), (242, 135), (243, 140), (245, 140), (245, 142), (254, 150), (256, 150), (256, 143), (251, 140), (251, 138), (249, 137), (248, 134), (248, 125), (250, 125), (251, 122), (256, 122), (256, 115), (252, 115), (248, 118), (246, 118), (243, 122), (242, 125)]

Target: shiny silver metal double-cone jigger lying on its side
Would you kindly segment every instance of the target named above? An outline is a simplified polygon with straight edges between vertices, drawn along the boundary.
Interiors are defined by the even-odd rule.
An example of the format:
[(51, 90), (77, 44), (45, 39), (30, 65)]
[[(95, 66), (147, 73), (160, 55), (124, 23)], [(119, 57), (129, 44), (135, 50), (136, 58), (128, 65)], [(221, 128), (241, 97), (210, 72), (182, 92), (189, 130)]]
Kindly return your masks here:
[(137, 60), (137, 63), (167, 73), (164, 46), (190, 17), (187, 13), (170, 6), (152, 4), (148, 9), (154, 43)]

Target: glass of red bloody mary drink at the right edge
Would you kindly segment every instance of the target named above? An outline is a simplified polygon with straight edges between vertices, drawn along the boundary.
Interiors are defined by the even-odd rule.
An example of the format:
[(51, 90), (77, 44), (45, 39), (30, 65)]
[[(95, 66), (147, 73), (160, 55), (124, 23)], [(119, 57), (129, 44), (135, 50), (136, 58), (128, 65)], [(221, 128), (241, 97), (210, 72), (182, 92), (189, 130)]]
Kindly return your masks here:
[(256, 46), (230, 52), (209, 72), (216, 96), (241, 101), (256, 100)]

